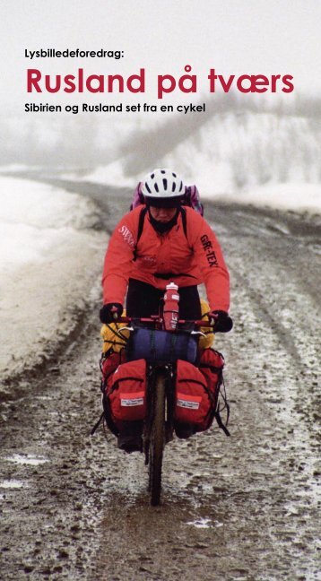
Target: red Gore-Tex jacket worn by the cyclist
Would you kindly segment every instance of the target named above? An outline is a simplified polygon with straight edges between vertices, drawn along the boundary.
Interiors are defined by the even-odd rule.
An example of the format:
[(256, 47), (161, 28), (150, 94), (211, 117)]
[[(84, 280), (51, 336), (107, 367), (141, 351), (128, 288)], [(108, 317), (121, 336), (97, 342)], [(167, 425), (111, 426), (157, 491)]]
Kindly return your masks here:
[[(181, 213), (169, 232), (159, 234), (147, 212), (136, 245), (142, 209), (138, 206), (128, 212), (109, 240), (102, 276), (104, 304), (124, 304), (128, 279), (134, 278), (164, 290), (169, 282), (176, 282), (178, 287), (204, 282), (211, 309), (229, 311), (229, 273), (221, 247), (204, 218), (187, 207), (187, 235)], [(155, 276), (161, 273), (170, 273), (170, 277)]]

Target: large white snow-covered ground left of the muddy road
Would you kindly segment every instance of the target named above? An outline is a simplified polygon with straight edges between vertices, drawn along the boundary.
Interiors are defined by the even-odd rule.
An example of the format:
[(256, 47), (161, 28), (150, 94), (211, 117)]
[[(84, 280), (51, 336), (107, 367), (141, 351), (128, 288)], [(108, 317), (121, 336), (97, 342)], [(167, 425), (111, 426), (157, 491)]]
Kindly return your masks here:
[(80, 195), (0, 178), (1, 375), (41, 360), (69, 334), (100, 272), (106, 236)]

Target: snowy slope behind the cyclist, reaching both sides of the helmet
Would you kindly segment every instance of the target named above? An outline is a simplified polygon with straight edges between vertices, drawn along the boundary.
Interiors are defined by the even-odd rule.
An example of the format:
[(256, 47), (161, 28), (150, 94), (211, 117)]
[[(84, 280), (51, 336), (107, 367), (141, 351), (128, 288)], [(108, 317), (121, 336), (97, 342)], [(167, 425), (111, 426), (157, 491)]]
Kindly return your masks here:
[[(164, 131), (160, 127), (160, 143), (166, 142), (165, 130), (166, 126)], [(196, 183), (208, 199), (320, 213), (320, 136), (319, 127), (308, 118), (230, 112), (210, 118), (156, 165), (175, 169), (187, 184)], [(138, 165), (144, 155), (141, 142), (142, 135), (137, 151), (130, 154)], [(147, 146), (152, 144), (143, 143)], [(157, 147), (155, 143), (155, 152)], [(137, 173), (128, 178), (124, 173), (127, 161), (119, 158), (85, 179), (134, 190), (143, 176)]]

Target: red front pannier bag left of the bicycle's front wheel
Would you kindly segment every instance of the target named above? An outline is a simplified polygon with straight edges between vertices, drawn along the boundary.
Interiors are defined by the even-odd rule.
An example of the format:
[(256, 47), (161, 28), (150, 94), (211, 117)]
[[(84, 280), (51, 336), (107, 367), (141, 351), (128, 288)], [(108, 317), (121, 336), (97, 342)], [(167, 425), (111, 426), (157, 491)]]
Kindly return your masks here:
[(108, 377), (105, 401), (111, 420), (143, 420), (146, 415), (146, 361), (122, 363)]

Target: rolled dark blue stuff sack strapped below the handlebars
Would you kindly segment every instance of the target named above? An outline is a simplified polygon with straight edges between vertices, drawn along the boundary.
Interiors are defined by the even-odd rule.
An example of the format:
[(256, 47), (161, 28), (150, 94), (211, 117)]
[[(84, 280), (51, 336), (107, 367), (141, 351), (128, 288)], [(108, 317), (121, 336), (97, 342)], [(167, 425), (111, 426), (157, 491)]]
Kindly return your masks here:
[(177, 360), (195, 363), (197, 340), (189, 333), (169, 333), (136, 328), (126, 345), (127, 360), (144, 359), (149, 363)]

